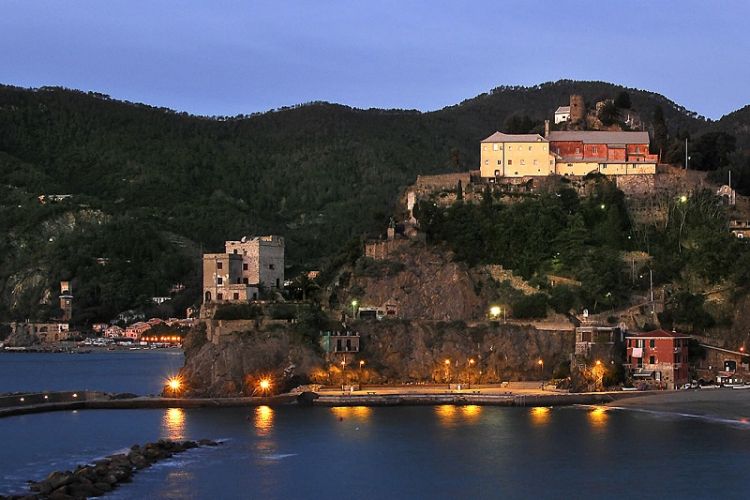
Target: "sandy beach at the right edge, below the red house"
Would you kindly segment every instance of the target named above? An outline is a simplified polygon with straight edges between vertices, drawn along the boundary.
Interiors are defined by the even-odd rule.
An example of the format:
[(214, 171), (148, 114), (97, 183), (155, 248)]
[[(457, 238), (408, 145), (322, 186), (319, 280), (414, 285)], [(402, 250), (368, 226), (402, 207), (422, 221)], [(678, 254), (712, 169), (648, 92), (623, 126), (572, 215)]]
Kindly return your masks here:
[(750, 424), (750, 390), (696, 389), (618, 399), (611, 407)]

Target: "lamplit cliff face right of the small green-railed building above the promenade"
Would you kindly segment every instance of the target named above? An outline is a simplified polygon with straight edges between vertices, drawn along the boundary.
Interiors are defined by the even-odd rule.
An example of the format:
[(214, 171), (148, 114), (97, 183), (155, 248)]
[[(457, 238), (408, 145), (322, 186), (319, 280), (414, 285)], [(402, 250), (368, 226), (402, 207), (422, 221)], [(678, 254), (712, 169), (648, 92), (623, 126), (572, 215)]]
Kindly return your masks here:
[[(365, 361), (365, 382), (538, 380), (542, 373), (549, 378), (554, 368), (569, 362), (575, 345), (572, 331), (501, 323), (386, 320), (360, 322), (354, 329), (361, 335), (362, 352), (352, 365)], [(356, 382), (359, 373), (350, 372), (350, 380)]]

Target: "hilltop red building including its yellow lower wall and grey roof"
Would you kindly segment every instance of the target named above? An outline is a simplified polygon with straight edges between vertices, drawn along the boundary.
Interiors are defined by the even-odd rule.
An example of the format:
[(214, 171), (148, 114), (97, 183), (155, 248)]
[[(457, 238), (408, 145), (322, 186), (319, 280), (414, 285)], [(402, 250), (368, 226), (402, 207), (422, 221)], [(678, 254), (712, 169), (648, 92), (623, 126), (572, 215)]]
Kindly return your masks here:
[(649, 153), (648, 132), (553, 131), (547, 139), (557, 175), (656, 173), (659, 157)]

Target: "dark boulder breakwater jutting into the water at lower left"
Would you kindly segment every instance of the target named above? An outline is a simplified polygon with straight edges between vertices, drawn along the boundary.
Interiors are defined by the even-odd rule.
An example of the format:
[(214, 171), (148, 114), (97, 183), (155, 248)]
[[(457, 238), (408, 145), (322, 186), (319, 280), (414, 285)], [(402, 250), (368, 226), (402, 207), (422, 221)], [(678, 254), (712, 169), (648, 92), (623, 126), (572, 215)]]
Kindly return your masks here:
[(55, 471), (46, 479), (29, 481), (27, 494), (2, 496), (5, 499), (68, 500), (101, 496), (121, 483), (129, 482), (140, 469), (199, 446), (217, 446), (210, 439), (199, 441), (172, 441), (160, 439), (143, 446), (134, 445), (128, 453), (117, 453), (88, 465), (79, 465), (73, 471)]

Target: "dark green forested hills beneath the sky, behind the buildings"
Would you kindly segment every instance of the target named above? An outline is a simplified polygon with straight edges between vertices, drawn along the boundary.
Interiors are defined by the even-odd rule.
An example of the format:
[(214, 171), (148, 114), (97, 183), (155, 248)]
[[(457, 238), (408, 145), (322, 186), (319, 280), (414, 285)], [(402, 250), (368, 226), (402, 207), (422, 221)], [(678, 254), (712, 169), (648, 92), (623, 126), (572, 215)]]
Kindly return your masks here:
[[(38, 314), (44, 291), (68, 278), (79, 319), (104, 318), (195, 282), (195, 255), (242, 235), (282, 234), (291, 264), (318, 267), (381, 228), (417, 174), (476, 168), (482, 138), (540, 129), (571, 93), (592, 103), (623, 90), (560, 81), (430, 113), (312, 103), (206, 118), (95, 93), (0, 87), (0, 319)], [(645, 120), (660, 107), (672, 136), (717, 126), (627, 90)], [(73, 197), (43, 205), (41, 194)]]

